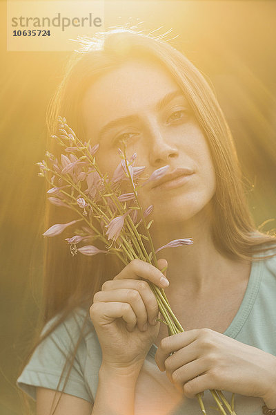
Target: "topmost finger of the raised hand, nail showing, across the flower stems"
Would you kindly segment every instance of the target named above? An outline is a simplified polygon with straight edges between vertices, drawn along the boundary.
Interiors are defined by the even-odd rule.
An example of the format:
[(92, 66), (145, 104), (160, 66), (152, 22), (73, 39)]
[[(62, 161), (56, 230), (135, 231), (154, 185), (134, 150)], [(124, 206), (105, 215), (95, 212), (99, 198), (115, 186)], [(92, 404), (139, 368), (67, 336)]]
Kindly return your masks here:
[(140, 259), (133, 259), (128, 265), (126, 265), (121, 272), (116, 275), (114, 279), (148, 279), (148, 281), (165, 288), (169, 285), (168, 279), (164, 277), (155, 266), (148, 264), (148, 262), (141, 261)]

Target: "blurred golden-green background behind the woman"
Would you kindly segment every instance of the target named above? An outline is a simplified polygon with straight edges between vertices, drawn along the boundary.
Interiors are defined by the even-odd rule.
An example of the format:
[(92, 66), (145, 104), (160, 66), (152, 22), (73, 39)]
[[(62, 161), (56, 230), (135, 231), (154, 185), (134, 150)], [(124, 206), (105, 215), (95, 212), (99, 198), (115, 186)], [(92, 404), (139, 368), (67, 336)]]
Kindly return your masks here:
[[(0, 414), (15, 415), (23, 413), (15, 380), (41, 304), (45, 183), (35, 163), (70, 53), (7, 52), (6, 2), (0, 7)], [(256, 225), (276, 228), (276, 2), (105, 1), (105, 28), (125, 24), (178, 35), (171, 44), (206, 75), (226, 114)]]

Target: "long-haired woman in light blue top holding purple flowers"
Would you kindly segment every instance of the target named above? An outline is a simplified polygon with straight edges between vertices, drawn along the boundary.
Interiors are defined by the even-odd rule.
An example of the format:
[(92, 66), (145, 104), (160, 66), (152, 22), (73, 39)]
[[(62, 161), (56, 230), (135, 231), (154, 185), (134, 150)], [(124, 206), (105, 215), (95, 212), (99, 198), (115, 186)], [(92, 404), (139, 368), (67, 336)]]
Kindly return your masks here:
[[(83, 40), (52, 101), (51, 130), (57, 115), (100, 143), (97, 162), (110, 175), (122, 138), (149, 174), (168, 165), (140, 192), (143, 206), (155, 206), (152, 239), (194, 243), (159, 256), (168, 279), (143, 261), (69, 259), (61, 241), (58, 250), (48, 243), (47, 324), (17, 381), (37, 399), (37, 415), (197, 414), (204, 390), (207, 413), (216, 414), (208, 389), (235, 392), (239, 415), (276, 408), (275, 237), (255, 230), (204, 77), (159, 39), (110, 30)], [(168, 337), (142, 278), (166, 287), (184, 333)]]

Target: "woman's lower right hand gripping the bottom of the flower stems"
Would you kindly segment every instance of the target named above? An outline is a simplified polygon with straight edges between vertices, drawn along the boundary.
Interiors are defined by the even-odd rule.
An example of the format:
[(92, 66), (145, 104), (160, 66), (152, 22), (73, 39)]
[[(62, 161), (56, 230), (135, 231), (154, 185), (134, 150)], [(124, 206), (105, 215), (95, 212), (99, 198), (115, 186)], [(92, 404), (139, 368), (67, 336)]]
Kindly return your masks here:
[(155, 361), (187, 398), (219, 389), (265, 400), (276, 390), (275, 356), (210, 329), (162, 339)]

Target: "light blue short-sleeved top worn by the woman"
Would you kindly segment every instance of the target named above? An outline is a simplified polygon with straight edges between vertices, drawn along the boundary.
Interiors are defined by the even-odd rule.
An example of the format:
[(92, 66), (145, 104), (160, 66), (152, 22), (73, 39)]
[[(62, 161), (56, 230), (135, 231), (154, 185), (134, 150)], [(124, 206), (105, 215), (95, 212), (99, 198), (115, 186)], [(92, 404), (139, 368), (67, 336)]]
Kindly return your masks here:
[[(253, 262), (242, 304), (224, 334), (276, 356), (275, 300), (276, 257)], [(86, 312), (83, 308), (78, 308), (71, 313), (37, 347), (17, 379), (17, 385), (34, 400), (37, 386), (57, 389), (66, 356), (79, 337), (79, 329)], [(48, 322), (44, 329), (54, 320)], [(135, 415), (200, 415), (197, 399), (178, 397), (176, 400), (175, 387), (168, 381), (166, 373), (160, 372), (157, 368), (154, 359), (156, 350), (157, 347), (152, 344), (137, 380)], [(88, 319), (65, 392), (92, 403), (97, 392), (100, 366), (101, 347), (92, 322)], [(61, 382), (58, 390), (61, 390), (62, 386)], [(230, 400), (231, 394), (224, 394)], [(205, 391), (204, 405), (208, 415), (218, 414), (209, 391)], [(262, 405), (264, 402), (261, 398), (235, 395), (237, 415), (261, 415)]]

